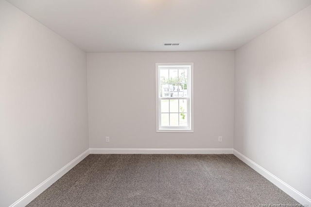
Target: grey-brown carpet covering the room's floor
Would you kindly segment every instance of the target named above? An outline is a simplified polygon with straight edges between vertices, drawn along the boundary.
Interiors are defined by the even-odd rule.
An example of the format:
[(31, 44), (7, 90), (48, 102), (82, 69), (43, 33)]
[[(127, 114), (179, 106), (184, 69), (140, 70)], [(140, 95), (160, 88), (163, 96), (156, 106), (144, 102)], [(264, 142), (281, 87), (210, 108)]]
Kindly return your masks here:
[(27, 207), (299, 205), (234, 155), (88, 155)]

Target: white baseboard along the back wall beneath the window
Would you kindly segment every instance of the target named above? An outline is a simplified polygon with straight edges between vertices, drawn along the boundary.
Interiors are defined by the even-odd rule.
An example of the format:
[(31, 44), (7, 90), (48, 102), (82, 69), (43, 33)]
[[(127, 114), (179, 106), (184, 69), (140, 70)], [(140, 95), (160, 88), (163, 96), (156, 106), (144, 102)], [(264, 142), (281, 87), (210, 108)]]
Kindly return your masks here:
[(232, 154), (232, 148), (90, 148), (90, 154)]

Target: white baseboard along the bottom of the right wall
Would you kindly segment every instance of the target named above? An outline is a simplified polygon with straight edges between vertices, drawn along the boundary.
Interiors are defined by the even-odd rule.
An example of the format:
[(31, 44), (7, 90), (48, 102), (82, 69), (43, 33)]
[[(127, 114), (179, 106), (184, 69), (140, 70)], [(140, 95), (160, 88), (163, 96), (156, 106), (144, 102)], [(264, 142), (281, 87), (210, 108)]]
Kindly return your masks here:
[(298, 201), (300, 204), (306, 207), (311, 207), (311, 199), (305, 196), (304, 194), (300, 193), (299, 191), (295, 190), (293, 187), (282, 181), (281, 179), (277, 178), (274, 174), (270, 173), (266, 169), (262, 168), (260, 165), (258, 165), (253, 160), (249, 159), (239, 151), (233, 149), (233, 155), (237, 156), (239, 159), (241, 159), (244, 163), (246, 163), (248, 166), (253, 168), (256, 172), (264, 176), (267, 180), (269, 180), (271, 183), (276, 185), (279, 189), (286, 192), (289, 196), (294, 198), (296, 201)]

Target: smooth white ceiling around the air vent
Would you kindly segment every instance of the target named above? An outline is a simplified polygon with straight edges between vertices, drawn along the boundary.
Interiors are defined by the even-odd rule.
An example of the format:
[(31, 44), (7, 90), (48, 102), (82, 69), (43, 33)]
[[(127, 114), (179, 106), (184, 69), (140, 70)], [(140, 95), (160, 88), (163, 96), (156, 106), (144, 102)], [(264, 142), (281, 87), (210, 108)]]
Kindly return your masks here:
[[(235, 50), (311, 0), (7, 0), (86, 52)], [(163, 43), (180, 43), (163, 46)]]

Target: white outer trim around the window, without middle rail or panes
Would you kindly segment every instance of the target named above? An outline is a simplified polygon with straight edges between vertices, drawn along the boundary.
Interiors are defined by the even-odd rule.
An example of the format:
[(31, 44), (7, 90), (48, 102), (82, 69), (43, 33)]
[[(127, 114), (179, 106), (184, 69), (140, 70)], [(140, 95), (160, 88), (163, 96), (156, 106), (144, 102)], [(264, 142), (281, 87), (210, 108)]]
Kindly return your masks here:
[[(190, 89), (189, 89), (189, 110), (190, 110), (190, 116), (189, 116), (189, 127), (187, 129), (181, 129), (181, 128), (159, 128), (159, 88), (158, 88), (158, 78), (159, 78), (159, 69), (158, 66), (190, 66), (190, 72), (189, 72), (189, 79), (190, 79)], [(187, 88), (189, 86), (187, 85)], [(155, 95), (156, 95), (156, 132), (193, 132), (193, 63), (156, 63), (155, 64)]]

